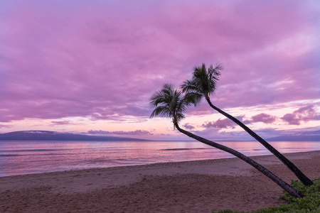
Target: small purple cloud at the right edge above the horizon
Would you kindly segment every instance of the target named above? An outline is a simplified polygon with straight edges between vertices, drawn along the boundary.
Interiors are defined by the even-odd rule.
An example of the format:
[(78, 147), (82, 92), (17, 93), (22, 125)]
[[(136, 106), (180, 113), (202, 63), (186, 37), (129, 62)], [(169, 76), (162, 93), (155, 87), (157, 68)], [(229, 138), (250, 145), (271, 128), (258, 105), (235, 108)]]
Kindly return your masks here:
[(285, 114), (282, 120), (291, 125), (300, 125), (302, 121), (320, 120), (320, 114), (314, 109), (314, 105), (301, 107), (293, 113)]

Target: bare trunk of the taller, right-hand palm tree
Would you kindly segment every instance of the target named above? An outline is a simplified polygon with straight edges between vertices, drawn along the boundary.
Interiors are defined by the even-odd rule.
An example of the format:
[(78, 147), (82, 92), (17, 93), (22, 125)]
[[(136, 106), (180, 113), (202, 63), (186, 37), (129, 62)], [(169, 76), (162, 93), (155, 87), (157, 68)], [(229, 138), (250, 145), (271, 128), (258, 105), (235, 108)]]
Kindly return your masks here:
[(244, 129), (247, 133), (250, 134), (250, 136), (252, 136), (253, 138), (255, 138), (257, 141), (259, 141), (263, 146), (265, 146), (265, 148), (267, 148), (272, 154), (274, 154), (277, 158), (279, 158), (279, 160), (282, 161), (282, 163), (284, 163), (284, 165), (287, 166), (287, 168), (289, 168), (289, 170), (292, 170), (292, 173), (294, 173), (294, 175), (297, 176), (297, 178), (299, 178), (299, 180), (307, 186), (313, 185), (314, 182), (312, 182), (312, 180), (310, 180), (308, 177), (306, 177), (306, 175), (304, 175), (304, 173), (302, 173), (301, 170), (299, 170), (299, 168), (297, 168), (296, 165), (294, 165), (290, 160), (288, 160), (286, 157), (284, 157), (284, 155), (282, 155), (282, 153), (279, 153), (279, 151), (277, 151), (277, 149), (275, 149), (273, 146), (271, 146), (269, 143), (267, 143), (267, 141), (265, 141), (264, 139), (262, 139), (260, 136), (258, 136), (254, 131), (252, 131), (251, 129), (249, 129), (247, 126), (245, 126), (245, 124), (242, 124), (241, 121), (239, 121), (238, 119), (236, 119), (235, 117), (231, 116), (230, 114), (226, 113), (225, 111), (219, 109), (218, 107), (215, 107), (211, 102), (210, 102), (210, 98), (206, 97), (206, 100), (208, 102), (208, 104), (210, 105), (210, 107), (212, 107), (213, 109), (215, 109), (216, 111), (220, 112), (220, 114), (223, 114), (224, 116), (226, 116), (228, 119), (231, 119), (233, 122), (235, 122), (235, 124), (238, 124), (239, 126), (242, 127), (242, 129)]

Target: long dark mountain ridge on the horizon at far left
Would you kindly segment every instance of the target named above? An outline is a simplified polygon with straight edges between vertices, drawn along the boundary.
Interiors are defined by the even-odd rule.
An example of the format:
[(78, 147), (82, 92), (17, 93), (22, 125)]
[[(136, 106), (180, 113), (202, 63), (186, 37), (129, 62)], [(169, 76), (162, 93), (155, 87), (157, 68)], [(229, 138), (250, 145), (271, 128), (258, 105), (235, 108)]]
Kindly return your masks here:
[(57, 131), (13, 131), (1, 133), (0, 141), (148, 141), (137, 138), (86, 136)]

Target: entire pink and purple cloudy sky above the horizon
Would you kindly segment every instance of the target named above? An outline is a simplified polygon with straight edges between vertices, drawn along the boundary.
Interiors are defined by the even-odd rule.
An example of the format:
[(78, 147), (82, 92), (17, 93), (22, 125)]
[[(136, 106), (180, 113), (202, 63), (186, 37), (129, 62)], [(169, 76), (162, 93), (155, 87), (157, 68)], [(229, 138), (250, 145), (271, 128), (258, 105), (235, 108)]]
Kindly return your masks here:
[[(151, 95), (223, 66), (216, 107), (263, 138), (320, 130), (320, 3), (0, 0), (0, 133), (187, 140)], [(250, 136), (203, 99), (183, 129)]]

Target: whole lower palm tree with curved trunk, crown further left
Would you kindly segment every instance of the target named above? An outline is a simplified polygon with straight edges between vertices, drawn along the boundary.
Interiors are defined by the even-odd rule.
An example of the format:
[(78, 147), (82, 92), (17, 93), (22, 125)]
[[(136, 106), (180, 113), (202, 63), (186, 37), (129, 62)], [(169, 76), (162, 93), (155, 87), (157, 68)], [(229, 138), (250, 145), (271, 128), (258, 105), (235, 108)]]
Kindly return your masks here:
[(186, 92), (186, 94), (184, 94), (183, 96), (182, 92), (175, 89), (173, 85), (164, 84), (163, 89), (159, 90), (158, 92), (155, 92), (151, 97), (150, 104), (153, 107), (155, 107), (155, 109), (154, 111), (152, 111), (150, 117), (152, 118), (154, 116), (163, 116), (171, 118), (172, 122), (174, 123), (174, 127), (176, 127), (176, 129), (178, 129), (178, 131), (180, 131), (181, 133), (186, 134), (186, 136), (189, 136), (193, 139), (196, 139), (197, 141), (206, 143), (209, 146), (213, 146), (222, 151), (235, 155), (236, 157), (240, 158), (241, 160), (244, 160), (257, 170), (259, 170), (261, 173), (266, 175), (268, 178), (270, 178), (273, 182), (279, 185), (279, 187), (282, 187), (282, 189), (288, 192), (290, 195), (299, 198), (303, 197), (302, 193), (292, 188), (290, 185), (287, 184), (287, 182), (284, 182), (282, 179), (278, 178), (276, 175), (271, 173), (270, 170), (267, 170), (267, 168), (263, 167), (251, 158), (248, 158), (247, 156), (243, 155), (242, 153), (239, 153), (238, 151), (233, 150), (232, 148), (228, 148), (227, 146), (223, 146), (219, 143), (209, 141), (206, 138), (196, 136), (191, 132), (181, 129), (180, 126), (178, 126), (178, 122), (184, 118), (184, 113), (186, 112), (186, 109), (189, 106), (191, 106), (192, 104), (197, 104), (197, 98), (197, 94), (194, 94), (192, 92)]

